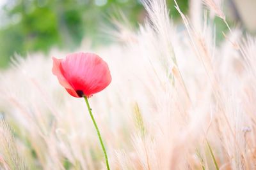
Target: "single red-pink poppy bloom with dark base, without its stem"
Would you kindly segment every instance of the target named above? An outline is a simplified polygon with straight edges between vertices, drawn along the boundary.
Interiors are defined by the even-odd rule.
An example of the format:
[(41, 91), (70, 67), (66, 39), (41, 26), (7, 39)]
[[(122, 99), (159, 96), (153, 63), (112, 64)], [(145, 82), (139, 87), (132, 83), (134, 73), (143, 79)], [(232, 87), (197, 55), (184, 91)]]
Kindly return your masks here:
[(108, 64), (94, 53), (71, 53), (52, 60), (52, 73), (71, 96), (90, 97), (111, 82)]

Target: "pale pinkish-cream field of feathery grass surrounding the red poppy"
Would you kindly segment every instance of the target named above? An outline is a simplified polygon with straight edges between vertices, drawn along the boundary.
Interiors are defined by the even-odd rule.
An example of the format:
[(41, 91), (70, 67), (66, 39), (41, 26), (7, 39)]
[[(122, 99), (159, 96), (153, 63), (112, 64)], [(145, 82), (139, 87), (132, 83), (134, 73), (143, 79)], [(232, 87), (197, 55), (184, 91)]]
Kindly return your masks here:
[[(256, 169), (256, 39), (231, 27), (216, 44), (221, 2), (190, 5), (177, 30), (164, 0), (145, 1), (139, 31), (119, 24), (120, 43), (93, 50), (113, 78), (89, 99), (111, 169)], [(83, 98), (51, 73), (66, 53), (2, 71), (0, 169), (106, 169)]]

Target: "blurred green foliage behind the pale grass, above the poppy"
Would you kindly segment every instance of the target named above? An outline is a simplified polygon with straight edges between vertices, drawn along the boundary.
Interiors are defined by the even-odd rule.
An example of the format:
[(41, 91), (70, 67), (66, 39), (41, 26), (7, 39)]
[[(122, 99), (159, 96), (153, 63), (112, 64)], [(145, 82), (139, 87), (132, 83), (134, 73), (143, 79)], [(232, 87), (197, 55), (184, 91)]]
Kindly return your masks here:
[[(136, 26), (145, 17), (139, 0), (11, 0), (4, 6), (10, 23), (0, 29), (0, 67), (14, 53), (49, 52), (52, 47), (74, 49), (84, 37), (94, 45), (106, 43), (100, 31), (121, 11)], [(100, 4), (101, 3), (101, 4)], [(173, 0), (167, 1), (173, 18), (179, 16)], [(186, 11), (188, 0), (178, 2)], [(16, 18), (16, 19), (15, 19)], [(14, 21), (13, 21), (14, 20)]]

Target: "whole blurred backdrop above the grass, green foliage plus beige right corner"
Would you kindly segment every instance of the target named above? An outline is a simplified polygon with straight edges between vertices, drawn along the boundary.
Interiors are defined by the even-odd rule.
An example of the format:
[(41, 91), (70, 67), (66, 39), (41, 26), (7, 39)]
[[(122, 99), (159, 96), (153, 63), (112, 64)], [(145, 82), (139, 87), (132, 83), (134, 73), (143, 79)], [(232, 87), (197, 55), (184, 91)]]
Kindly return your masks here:
[[(188, 15), (189, 1), (177, 2)], [(170, 17), (180, 22), (173, 0), (167, 3)], [(255, 34), (255, 0), (227, 0), (224, 6), (228, 23)], [(111, 41), (104, 29), (112, 27), (111, 19), (120, 13), (134, 29), (147, 16), (140, 0), (0, 0), (0, 68), (8, 67), (15, 53), (47, 55), (51, 48), (74, 50), (83, 39), (90, 39), (92, 46), (108, 45)], [(227, 29), (221, 20), (216, 23)]]

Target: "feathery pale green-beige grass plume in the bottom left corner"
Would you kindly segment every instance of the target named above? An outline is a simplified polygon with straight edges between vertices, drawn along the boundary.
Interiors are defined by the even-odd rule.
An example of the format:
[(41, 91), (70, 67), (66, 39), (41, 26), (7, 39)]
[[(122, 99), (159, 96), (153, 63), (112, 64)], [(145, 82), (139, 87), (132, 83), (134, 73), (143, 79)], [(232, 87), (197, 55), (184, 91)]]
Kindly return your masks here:
[(11, 170), (28, 169), (18, 153), (11, 129), (3, 119), (0, 120), (0, 143), (0, 167), (2, 165), (2, 168)]

